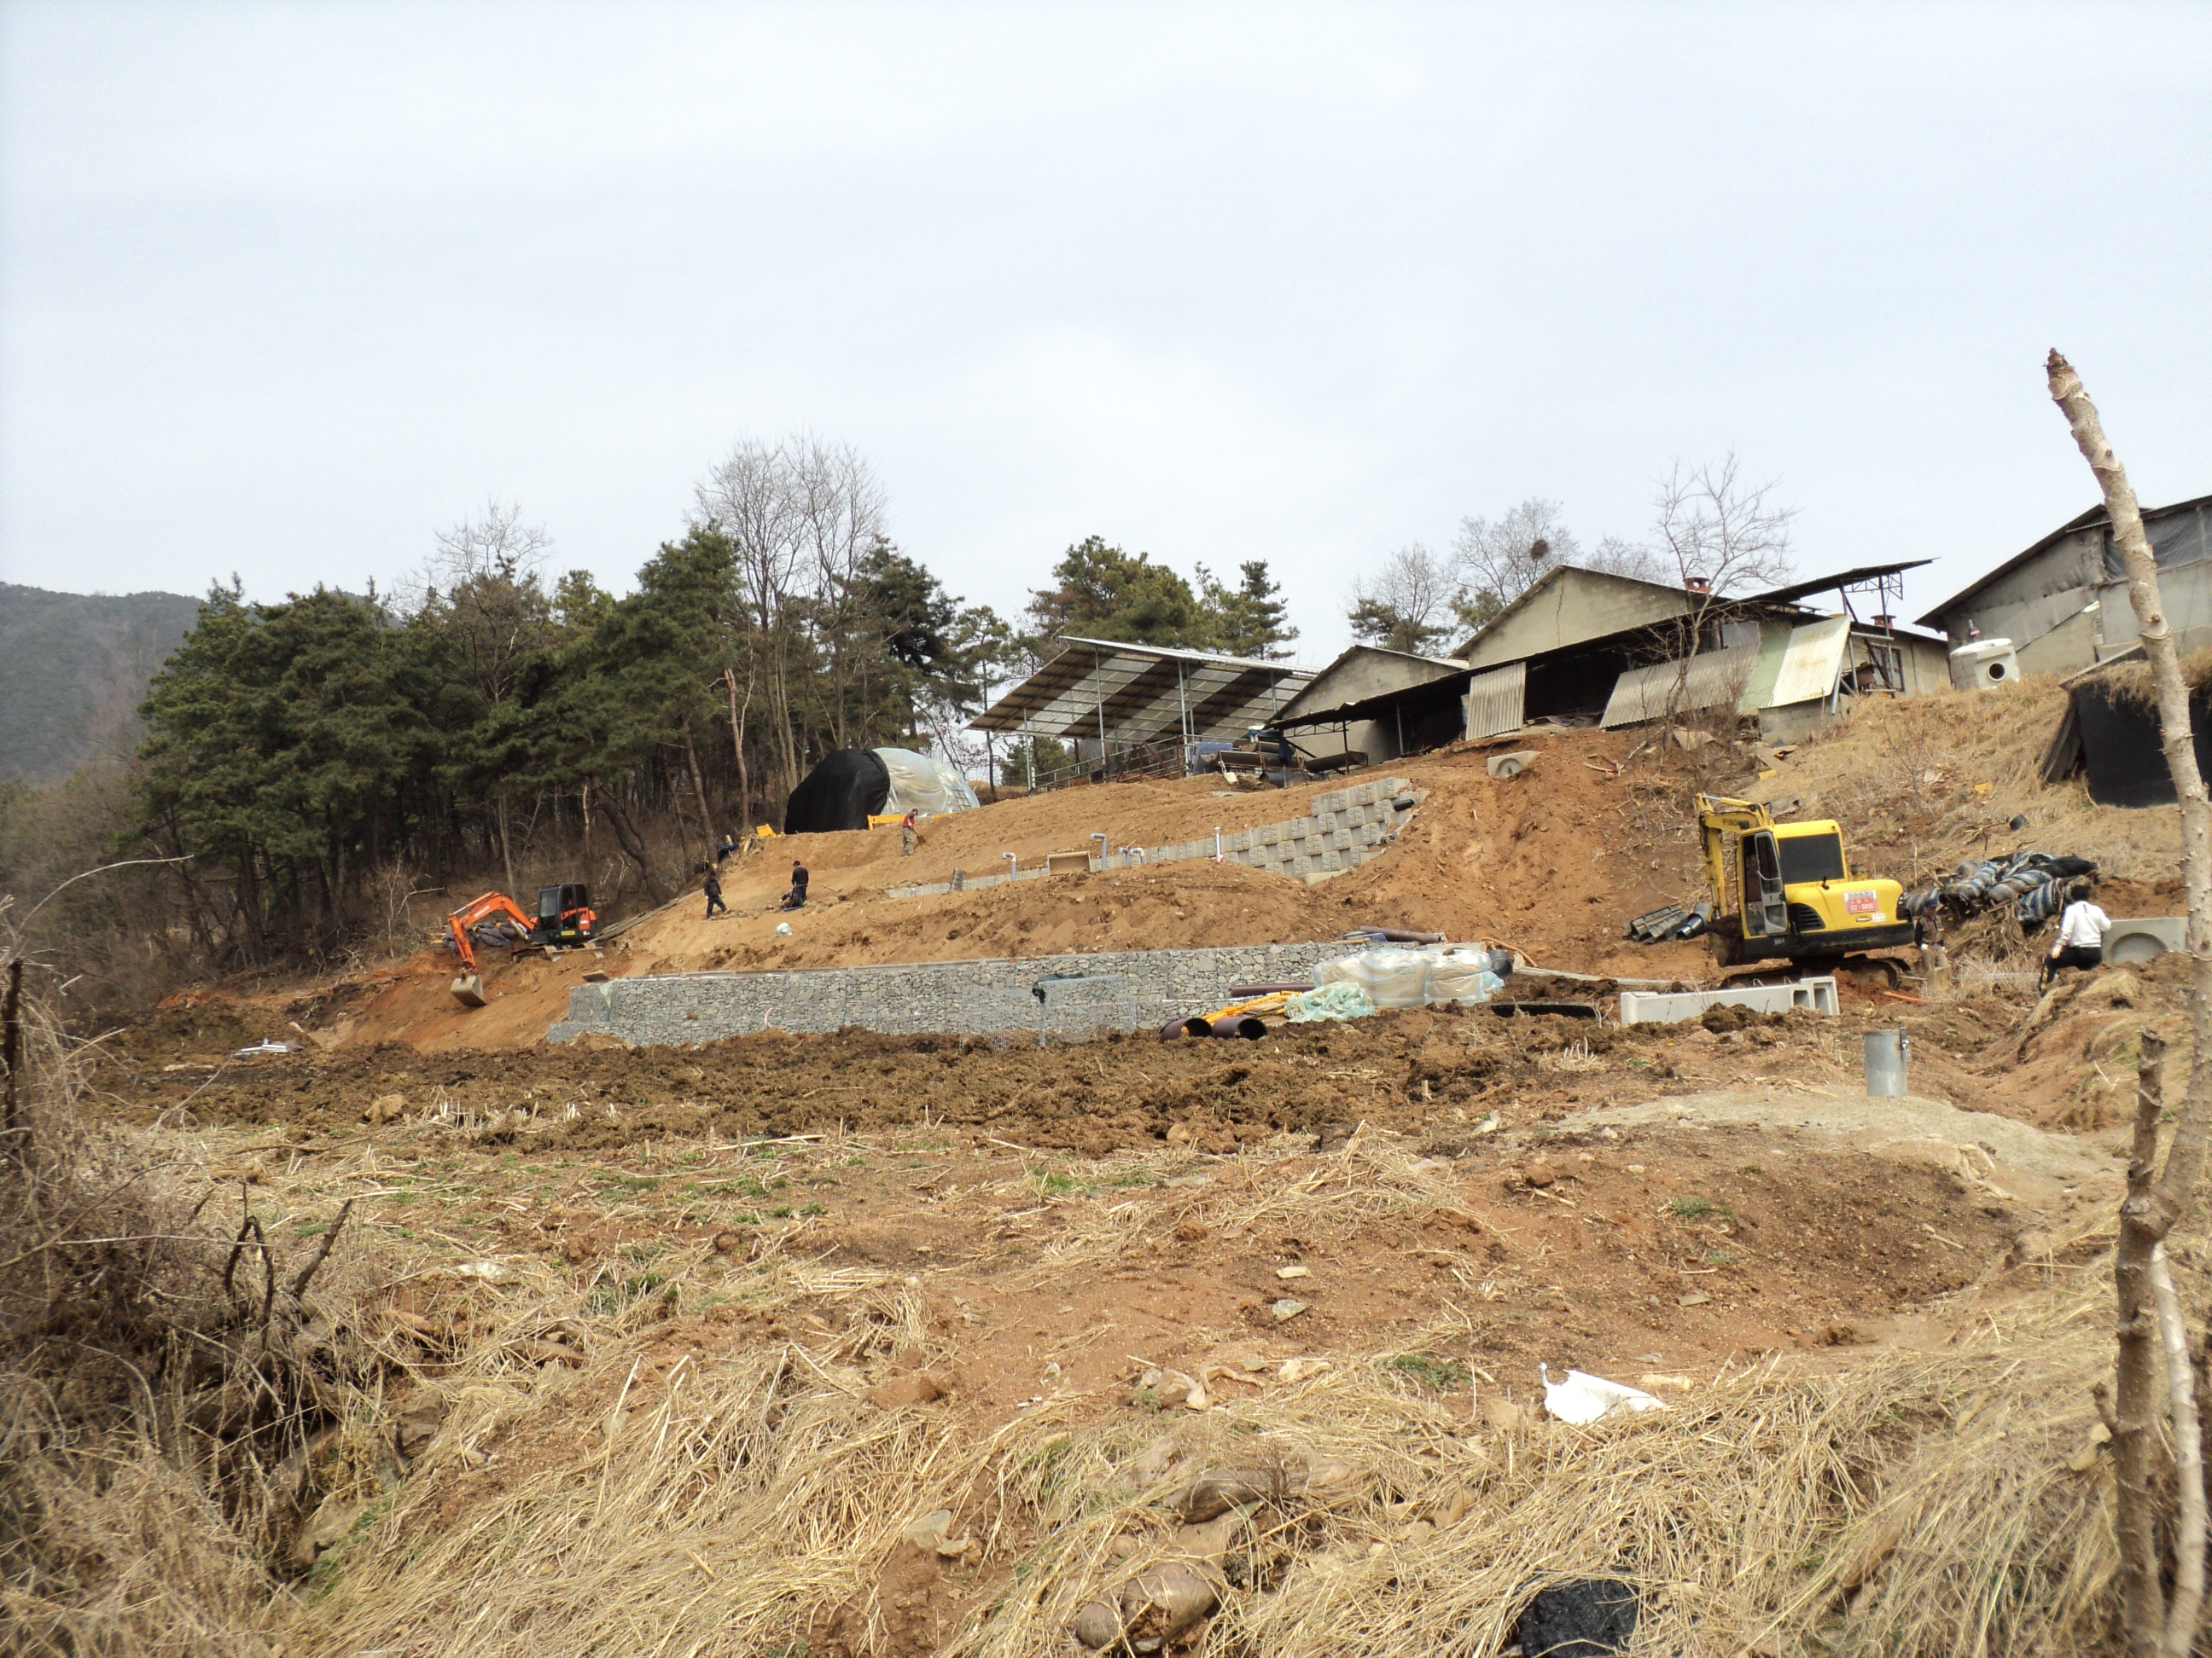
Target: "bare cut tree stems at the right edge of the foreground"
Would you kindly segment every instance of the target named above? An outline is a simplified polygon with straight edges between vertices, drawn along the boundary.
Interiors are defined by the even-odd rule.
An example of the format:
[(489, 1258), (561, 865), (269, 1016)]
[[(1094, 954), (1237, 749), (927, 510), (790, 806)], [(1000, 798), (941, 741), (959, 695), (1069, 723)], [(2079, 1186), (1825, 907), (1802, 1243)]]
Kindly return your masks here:
[[(2066, 411), (2075, 444), (2097, 473), (2106, 515), (2112, 522), (2112, 546), (2128, 573), (2128, 604), (2135, 606), (2143, 657), (2159, 701), (2159, 741), (2166, 765), (2174, 774), (2174, 796), (2181, 805), (2181, 880), (2190, 900), (2188, 951), (2194, 957), (2190, 979), (2190, 1028), (2197, 1054), (2212, 1054), (2212, 802), (2197, 772), (2197, 741), (2190, 732), (2190, 688), (2181, 679), (2181, 652), (2166, 621), (2159, 595), (2159, 566), (2143, 535), (2143, 513), (2135, 502), (2128, 473), (2104, 438), (2097, 405), (2088, 400), (2081, 376), (2057, 351), (2044, 363), (2051, 398)], [(2212, 1063), (2190, 1066), (2190, 1092), (2174, 1123), (2174, 1141), (2166, 1152), (2166, 1172), (2152, 1178), (2159, 1150), (2159, 1116), (2163, 1114), (2163, 1039), (2143, 1032), (2141, 1081), (2135, 1103), (2135, 1150), (2128, 1158), (2128, 1198), (2119, 1209), (2119, 1251), (2112, 1269), (2119, 1293), (2119, 1364), (2117, 1408), (2112, 1413), (2112, 1461), (2119, 1481), (2119, 1594), (2130, 1658), (2188, 1658), (2205, 1594), (2205, 1510), (2203, 1448), (2197, 1433), (2174, 1424), (2179, 1457), (2181, 1514), (2174, 1521), (2174, 1603), (2166, 1605), (2157, 1545), (2157, 1503), (2150, 1494), (2157, 1424), (2168, 1417), (2172, 1399), (2188, 1393), (2188, 1362), (2172, 1397), (2161, 1397), (2150, 1355), (2152, 1324), (2159, 1322), (2152, 1302), (2168, 1302), (2168, 1324), (2179, 1324), (2179, 1298), (2159, 1245), (2172, 1231), (2205, 1165), (2205, 1134), (2212, 1127)], [(2163, 1282), (2161, 1282), (2163, 1280)], [(2163, 1293), (2161, 1293), (2163, 1291)], [(2168, 1329), (2168, 1349), (2188, 1351), (2185, 1333)], [(2192, 1413), (2194, 1417), (2194, 1413)], [(2194, 1421), (2192, 1421), (2194, 1426)]]

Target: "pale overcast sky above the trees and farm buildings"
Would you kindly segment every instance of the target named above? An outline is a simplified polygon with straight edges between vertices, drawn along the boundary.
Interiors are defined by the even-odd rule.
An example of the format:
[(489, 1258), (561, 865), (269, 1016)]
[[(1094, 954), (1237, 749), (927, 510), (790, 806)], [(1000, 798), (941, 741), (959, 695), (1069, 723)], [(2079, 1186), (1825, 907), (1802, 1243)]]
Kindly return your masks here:
[(250, 597), (487, 495), (622, 590), (739, 438), (1020, 608), (1352, 579), (1734, 449), (1920, 615), (2212, 491), (2212, 7), (0, 4), (0, 579)]

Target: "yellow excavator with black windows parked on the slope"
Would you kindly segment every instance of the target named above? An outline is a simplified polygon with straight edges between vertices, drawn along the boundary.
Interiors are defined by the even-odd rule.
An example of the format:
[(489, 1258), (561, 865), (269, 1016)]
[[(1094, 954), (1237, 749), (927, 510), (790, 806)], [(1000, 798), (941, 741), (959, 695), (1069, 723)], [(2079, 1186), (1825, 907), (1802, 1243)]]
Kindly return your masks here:
[[(1697, 829), (1712, 886), (1712, 955), (1723, 968), (1787, 959), (1825, 970), (1847, 955), (1913, 942), (1913, 924), (1900, 911), (1905, 889), (1854, 871), (1834, 818), (1774, 822), (1754, 800), (1701, 794)], [(1728, 856), (1730, 836), (1736, 840), (1734, 860)], [(1728, 902), (1732, 862), (1734, 906)], [(1898, 979), (1893, 962), (1876, 966)]]

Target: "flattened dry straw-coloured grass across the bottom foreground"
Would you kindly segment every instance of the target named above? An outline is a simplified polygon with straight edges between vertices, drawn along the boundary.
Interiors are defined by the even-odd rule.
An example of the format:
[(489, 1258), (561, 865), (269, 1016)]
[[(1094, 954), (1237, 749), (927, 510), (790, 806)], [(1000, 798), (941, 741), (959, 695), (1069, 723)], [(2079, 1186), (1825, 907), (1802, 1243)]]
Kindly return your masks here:
[[(916, 1298), (856, 1320), (922, 1335)], [(1544, 1581), (1639, 1585), (1655, 1651), (2084, 1654), (2106, 1643), (2110, 1479), (2075, 1472), (2108, 1368), (2104, 1284), (2062, 1278), (1936, 1355), (1723, 1377), (1626, 1421), (1475, 1428), (1383, 1362), (1340, 1364), (1175, 1424), (1188, 1475), (1340, 1459), (1340, 1490), (1250, 1514), (1201, 1651), (1495, 1654)], [(860, 1344), (867, 1346), (865, 1342)], [(940, 1651), (1060, 1651), (1084, 1601), (1170, 1547), (1175, 1475), (1139, 1477), (1161, 1419), (1055, 1399), (971, 1437), (860, 1397), (852, 1342), (684, 1360), (608, 1353), (573, 1382), (465, 1393), (431, 1468), (303, 1612), (316, 1651), (889, 1649), (885, 1567), (951, 1510), (967, 1620)], [(469, 1463), (489, 1448), (500, 1461)], [(515, 1472), (500, 1477), (502, 1463)]]

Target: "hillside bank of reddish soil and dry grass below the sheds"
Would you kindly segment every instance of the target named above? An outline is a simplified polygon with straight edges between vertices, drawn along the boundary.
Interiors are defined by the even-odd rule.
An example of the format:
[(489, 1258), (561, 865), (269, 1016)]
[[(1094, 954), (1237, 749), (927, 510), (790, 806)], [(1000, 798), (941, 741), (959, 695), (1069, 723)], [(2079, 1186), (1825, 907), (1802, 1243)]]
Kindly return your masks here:
[[(613, 975), (814, 968), (869, 962), (1042, 957), (1064, 951), (1177, 948), (1305, 942), (1354, 924), (1409, 926), (1455, 940), (1511, 944), (1555, 968), (1710, 979), (1703, 944), (1630, 944), (1630, 915), (1701, 895), (1690, 798), (1699, 789), (1794, 802), (1794, 816), (1836, 816), (1854, 860), (1916, 882), (1984, 849), (2037, 844), (2097, 858), (2106, 909), (2172, 913), (2179, 906), (2172, 814), (2088, 802), (2079, 783), (2046, 787), (2035, 760), (2062, 694), (2033, 683), (2011, 694), (1944, 692), (1874, 703), (1774, 767), (1747, 743), (1681, 749), (1652, 732), (1537, 732), (1511, 738), (1535, 749), (1513, 778), (1493, 778), (1498, 749), (1462, 745), (1360, 776), (1402, 776), (1427, 796), (1398, 840), (1360, 869), (1305, 884), (1241, 864), (1181, 860), (1148, 869), (1060, 875), (931, 898), (889, 898), (889, 886), (947, 880), (956, 869), (995, 873), (1000, 853), (1035, 867), (1048, 851), (1159, 844), (1303, 816), (1327, 787), (1221, 791), (1214, 778), (1117, 783), (1011, 796), (925, 827), (900, 856), (896, 829), (790, 836), (763, 842), (723, 869), (730, 915), (703, 917), (703, 900), (679, 898), (630, 924), (602, 955), (487, 953), (487, 1008), (447, 995), (453, 957), (425, 951), (376, 973), (288, 999), (257, 997), (290, 1035), (323, 1046), (405, 1041), (422, 1050), (515, 1050), (542, 1041), (588, 970)], [(1774, 776), (1759, 776), (1772, 769)], [(1989, 785), (1989, 787), (1980, 787)], [(2028, 827), (2011, 829), (2015, 818)], [(812, 871), (812, 902), (776, 902), (790, 860)], [(792, 935), (779, 937), (776, 926)], [(1969, 959), (2033, 968), (2035, 946), (2008, 915), (1975, 924)], [(197, 1017), (210, 1017), (206, 1004)], [(265, 1026), (239, 1015), (241, 1028)], [(283, 1035), (283, 1032), (279, 1032)]]

